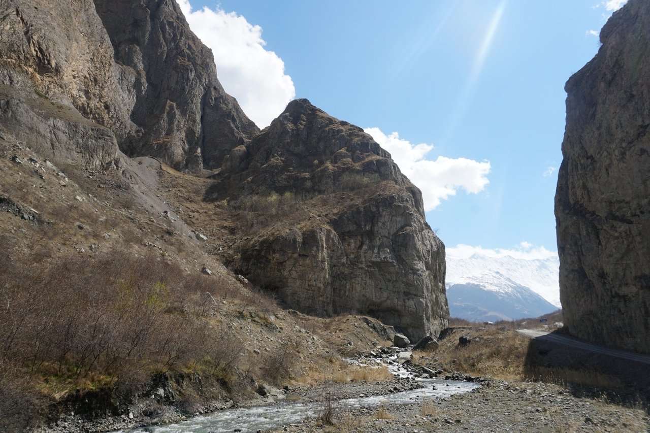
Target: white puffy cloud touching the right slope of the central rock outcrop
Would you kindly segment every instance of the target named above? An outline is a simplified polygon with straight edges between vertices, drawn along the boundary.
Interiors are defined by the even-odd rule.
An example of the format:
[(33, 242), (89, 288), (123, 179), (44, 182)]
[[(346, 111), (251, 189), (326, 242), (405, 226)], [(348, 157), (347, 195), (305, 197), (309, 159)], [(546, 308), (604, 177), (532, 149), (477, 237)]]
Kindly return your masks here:
[(422, 190), (426, 211), (437, 207), (441, 200), (456, 195), (459, 189), (477, 194), (489, 183), (489, 161), (443, 156), (433, 161), (425, 158), (434, 148), (431, 144), (411, 144), (398, 133), (385, 135), (379, 128), (365, 128), (364, 131), (391, 153), (402, 173)]

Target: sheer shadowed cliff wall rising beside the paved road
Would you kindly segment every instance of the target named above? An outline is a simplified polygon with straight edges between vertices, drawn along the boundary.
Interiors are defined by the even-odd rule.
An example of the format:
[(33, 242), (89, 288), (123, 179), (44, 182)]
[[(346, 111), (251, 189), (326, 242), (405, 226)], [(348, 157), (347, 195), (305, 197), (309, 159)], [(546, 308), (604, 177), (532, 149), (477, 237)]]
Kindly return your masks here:
[(565, 86), (555, 198), (560, 298), (577, 337), (650, 352), (650, 3), (630, 0)]

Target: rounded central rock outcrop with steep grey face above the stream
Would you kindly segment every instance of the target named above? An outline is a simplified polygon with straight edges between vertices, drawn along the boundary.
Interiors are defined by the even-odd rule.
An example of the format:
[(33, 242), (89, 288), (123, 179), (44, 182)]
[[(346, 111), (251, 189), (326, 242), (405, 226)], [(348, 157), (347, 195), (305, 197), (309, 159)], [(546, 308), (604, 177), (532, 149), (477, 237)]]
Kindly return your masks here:
[(424, 221), (421, 192), (361, 128), (293, 101), (217, 179), (213, 200), (300, 202), (231, 258), (289, 306), (358, 311), (415, 339), (447, 325), (445, 246)]

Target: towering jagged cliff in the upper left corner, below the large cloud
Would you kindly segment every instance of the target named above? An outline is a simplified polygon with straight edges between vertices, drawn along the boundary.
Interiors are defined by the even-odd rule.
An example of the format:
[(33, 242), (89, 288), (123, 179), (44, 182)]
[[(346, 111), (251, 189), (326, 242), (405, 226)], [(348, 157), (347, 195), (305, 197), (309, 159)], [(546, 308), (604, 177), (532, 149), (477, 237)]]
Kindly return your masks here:
[[(66, 131), (83, 129), (73, 117), (108, 129), (127, 155), (190, 170), (217, 166), (259, 131), (224, 92), (174, 0), (5, 0), (0, 25), (0, 121), (25, 142), (59, 143), (59, 151), (34, 144), (47, 156), (83, 162), (92, 153), (92, 145), (76, 157), (63, 151), (75, 135)], [(38, 106), (53, 112), (34, 122)], [(77, 113), (66, 126), (25, 129), (60, 123), (57, 109)]]

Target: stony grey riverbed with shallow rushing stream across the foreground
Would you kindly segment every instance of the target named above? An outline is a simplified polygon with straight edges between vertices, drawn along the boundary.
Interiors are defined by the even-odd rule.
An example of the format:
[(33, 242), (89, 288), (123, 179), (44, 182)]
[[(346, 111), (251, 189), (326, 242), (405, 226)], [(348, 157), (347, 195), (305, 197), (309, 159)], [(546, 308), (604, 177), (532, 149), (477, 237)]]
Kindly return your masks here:
[[(571, 391), (569, 387), (555, 384), (505, 382), (425, 370), (408, 360), (403, 362), (404, 358), (408, 359), (404, 353), (401, 354), (402, 363), (398, 362), (399, 354), (396, 348), (385, 348), (382, 352), (350, 360), (363, 365), (389, 363), (396, 377), (385, 382), (268, 389), (265, 397), (242, 402), (239, 410), (232, 409), (237, 405), (231, 401), (215, 402), (200, 408), (199, 416), (189, 420), (173, 407), (161, 408), (160, 413), (142, 413), (134, 408), (133, 418), (129, 415), (94, 422), (71, 415), (49, 431), (128, 432), (134, 428), (136, 432), (206, 433), (650, 431), (647, 408), (640, 403), (616, 402), (615, 395), (594, 396), (593, 392), (585, 395), (584, 389)], [(440, 377), (430, 379), (429, 376)], [(445, 382), (445, 379), (450, 381)], [(454, 382), (458, 380), (465, 382)], [(461, 386), (466, 388), (461, 390)], [(432, 392), (430, 387), (443, 389)], [(454, 389), (456, 387), (459, 389)], [(223, 408), (231, 409), (209, 415)], [(322, 413), (327, 409), (331, 410), (333, 425), (322, 421)], [(223, 417), (223, 422), (215, 421), (219, 416)], [(272, 419), (273, 425), (264, 428), (266, 419)], [(166, 426), (144, 426), (156, 424)]]

